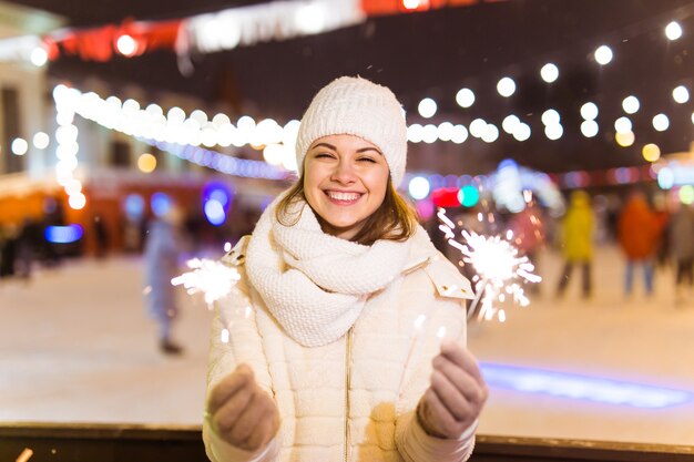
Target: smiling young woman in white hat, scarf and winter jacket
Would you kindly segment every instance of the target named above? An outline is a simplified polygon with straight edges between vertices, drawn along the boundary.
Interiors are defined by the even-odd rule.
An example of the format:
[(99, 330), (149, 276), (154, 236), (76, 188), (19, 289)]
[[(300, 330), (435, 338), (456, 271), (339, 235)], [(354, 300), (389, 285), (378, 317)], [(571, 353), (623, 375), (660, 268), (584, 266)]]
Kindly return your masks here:
[(488, 393), (465, 348), (472, 294), (396, 192), (400, 104), (384, 86), (337, 79), (314, 97), (296, 147), (298, 182), (225, 257), (242, 279), (213, 328), (207, 455), (467, 460)]

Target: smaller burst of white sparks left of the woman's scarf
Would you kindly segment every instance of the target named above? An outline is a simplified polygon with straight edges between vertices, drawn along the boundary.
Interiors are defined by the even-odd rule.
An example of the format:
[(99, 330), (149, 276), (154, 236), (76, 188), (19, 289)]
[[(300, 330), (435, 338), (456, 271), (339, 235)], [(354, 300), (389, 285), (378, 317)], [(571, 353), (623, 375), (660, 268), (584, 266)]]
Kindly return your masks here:
[(229, 295), (241, 275), (234, 267), (206, 258), (193, 258), (186, 263), (192, 269), (171, 279), (174, 286), (183, 286), (190, 295), (203, 292), (207, 307)]

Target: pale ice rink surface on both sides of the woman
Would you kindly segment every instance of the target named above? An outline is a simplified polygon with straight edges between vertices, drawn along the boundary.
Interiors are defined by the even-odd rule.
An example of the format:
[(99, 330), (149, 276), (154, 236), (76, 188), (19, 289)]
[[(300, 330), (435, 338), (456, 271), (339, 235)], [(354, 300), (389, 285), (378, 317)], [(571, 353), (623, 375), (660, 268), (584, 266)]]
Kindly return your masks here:
[[(560, 300), (553, 289), (561, 261), (547, 251), (545, 280), (530, 307), (509, 309), (504, 324), (469, 326), (469, 348), (490, 373), (506, 365), (572, 374), (562, 376), (559, 396), (539, 392), (544, 384), (509, 387), (497, 378), (480, 433), (694, 444), (694, 297), (675, 304), (666, 268), (656, 274), (653, 297), (637, 280), (625, 298), (622, 266), (616, 249), (600, 248), (593, 297), (580, 298), (573, 280)], [(185, 353), (165, 357), (144, 312), (141, 280), (137, 257), (111, 257), (40, 269), (30, 283), (1, 283), (0, 420), (200, 423), (211, 312), (181, 294), (175, 333)], [(609, 402), (614, 393), (596, 397), (585, 378), (684, 398), (662, 408)]]

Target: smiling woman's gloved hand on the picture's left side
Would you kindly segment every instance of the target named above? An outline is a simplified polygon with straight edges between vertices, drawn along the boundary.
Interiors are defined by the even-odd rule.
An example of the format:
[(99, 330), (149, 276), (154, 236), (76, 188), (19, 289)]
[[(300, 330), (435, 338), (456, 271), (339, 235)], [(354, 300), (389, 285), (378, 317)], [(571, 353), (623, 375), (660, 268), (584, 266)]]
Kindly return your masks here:
[(279, 429), (275, 400), (261, 389), (246, 365), (238, 366), (212, 390), (207, 415), (220, 438), (246, 451), (265, 448)]

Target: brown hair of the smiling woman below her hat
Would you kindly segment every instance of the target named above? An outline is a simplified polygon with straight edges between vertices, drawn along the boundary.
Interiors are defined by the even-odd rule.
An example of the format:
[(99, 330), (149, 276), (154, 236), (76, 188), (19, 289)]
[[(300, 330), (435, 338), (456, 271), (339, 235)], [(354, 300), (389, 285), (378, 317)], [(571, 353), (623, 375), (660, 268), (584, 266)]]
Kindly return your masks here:
[[(296, 209), (292, 207), (298, 201), (306, 201), (304, 195), (304, 174), (277, 204), (275, 218), (284, 226), (294, 226), (298, 222), (303, 208)], [(318, 217), (318, 219), (320, 218)], [(409, 239), (415, 234), (416, 228), (417, 213), (398, 194), (395, 186), (392, 186), (390, 175), (388, 175), (388, 186), (386, 187), (384, 202), (366, 219), (359, 233), (349, 240), (366, 246), (370, 246), (379, 239), (402, 242)]]

